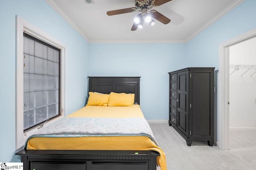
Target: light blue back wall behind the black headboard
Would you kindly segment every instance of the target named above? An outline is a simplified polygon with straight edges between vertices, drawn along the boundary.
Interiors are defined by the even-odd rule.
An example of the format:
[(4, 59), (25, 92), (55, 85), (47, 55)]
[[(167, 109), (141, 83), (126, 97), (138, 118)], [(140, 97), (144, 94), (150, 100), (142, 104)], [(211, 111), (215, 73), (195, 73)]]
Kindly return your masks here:
[(168, 72), (184, 67), (184, 44), (90, 44), (90, 76), (140, 76), (147, 120), (168, 119)]

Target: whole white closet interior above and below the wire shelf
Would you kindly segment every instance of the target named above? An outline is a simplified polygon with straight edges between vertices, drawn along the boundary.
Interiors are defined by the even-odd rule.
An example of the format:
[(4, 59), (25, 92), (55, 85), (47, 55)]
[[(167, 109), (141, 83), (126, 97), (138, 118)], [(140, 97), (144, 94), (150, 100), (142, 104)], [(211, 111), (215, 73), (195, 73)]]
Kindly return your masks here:
[(256, 38), (229, 47), (229, 127), (256, 128)]

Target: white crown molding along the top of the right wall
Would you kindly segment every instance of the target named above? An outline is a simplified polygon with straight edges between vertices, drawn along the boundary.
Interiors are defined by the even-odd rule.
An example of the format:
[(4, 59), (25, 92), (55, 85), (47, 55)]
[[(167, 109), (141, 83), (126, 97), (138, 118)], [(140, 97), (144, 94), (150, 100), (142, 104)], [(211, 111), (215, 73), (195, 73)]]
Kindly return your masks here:
[(239, 6), (240, 4), (242, 4), (244, 1), (246, 0), (235, 0), (234, 2), (232, 2), (229, 6), (227, 6), (226, 8), (224, 8), (224, 10), (222, 10), (221, 12), (219, 12), (216, 16), (214, 16), (211, 20), (209, 20), (206, 24), (204, 24), (202, 27), (200, 27), (198, 30), (196, 30), (196, 32), (194, 32), (192, 35), (190, 35), (185, 42), (189, 42), (190, 40), (192, 40), (193, 38), (195, 38), (196, 36), (198, 36), (198, 34), (200, 34), (201, 32), (203, 32), (204, 30), (206, 30), (208, 27), (210, 27), (212, 24), (214, 24), (216, 21), (218, 21), (220, 18), (222, 18), (223, 16), (225, 16), (226, 14), (228, 14), (228, 12), (232, 11), (234, 8), (236, 8), (237, 6)]

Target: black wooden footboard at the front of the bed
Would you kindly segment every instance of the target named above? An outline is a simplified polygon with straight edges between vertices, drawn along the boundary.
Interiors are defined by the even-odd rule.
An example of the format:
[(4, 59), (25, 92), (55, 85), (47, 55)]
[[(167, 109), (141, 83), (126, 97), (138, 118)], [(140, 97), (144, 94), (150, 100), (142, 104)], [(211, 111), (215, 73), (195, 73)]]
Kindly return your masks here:
[(24, 170), (156, 170), (148, 150), (20, 150)]

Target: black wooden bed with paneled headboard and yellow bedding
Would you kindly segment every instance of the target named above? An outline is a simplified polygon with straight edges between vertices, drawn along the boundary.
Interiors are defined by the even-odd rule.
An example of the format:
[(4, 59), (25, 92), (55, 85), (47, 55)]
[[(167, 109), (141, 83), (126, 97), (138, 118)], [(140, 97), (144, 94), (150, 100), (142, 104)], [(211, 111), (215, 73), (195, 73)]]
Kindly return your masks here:
[[(88, 78), (89, 99), (94, 95), (134, 94), (134, 102), (128, 107), (116, 104), (111, 107), (89, 105), (93, 102), (88, 100), (86, 107), (68, 115), (59, 124), (44, 128), (40, 135), (32, 136), (26, 147), (16, 153), (21, 156), (24, 170), (156, 170), (158, 165), (166, 170), (164, 152), (157, 146), (140, 109), (140, 77)], [(102, 105), (105, 105), (104, 102)], [(74, 124), (76, 127), (72, 132), (76, 132), (69, 133)], [(89, 124), (90, 128), (86, 127)], [(48, 129), (57, 130), (55, 127), (62, 131), (66, 128), (66, 133), (74, 136), (58, 137), (57, 131), (55, 136), (49, 136), (52, 134), (48, 135)], [(104, 132), (99, 131), (102, 127)], [(116, 129), (115, 132), (110, 127)], [(88, 130), (86, 135), (83, 132), (81, 136), (79, 129), (90, 129), (92, 132)]]

